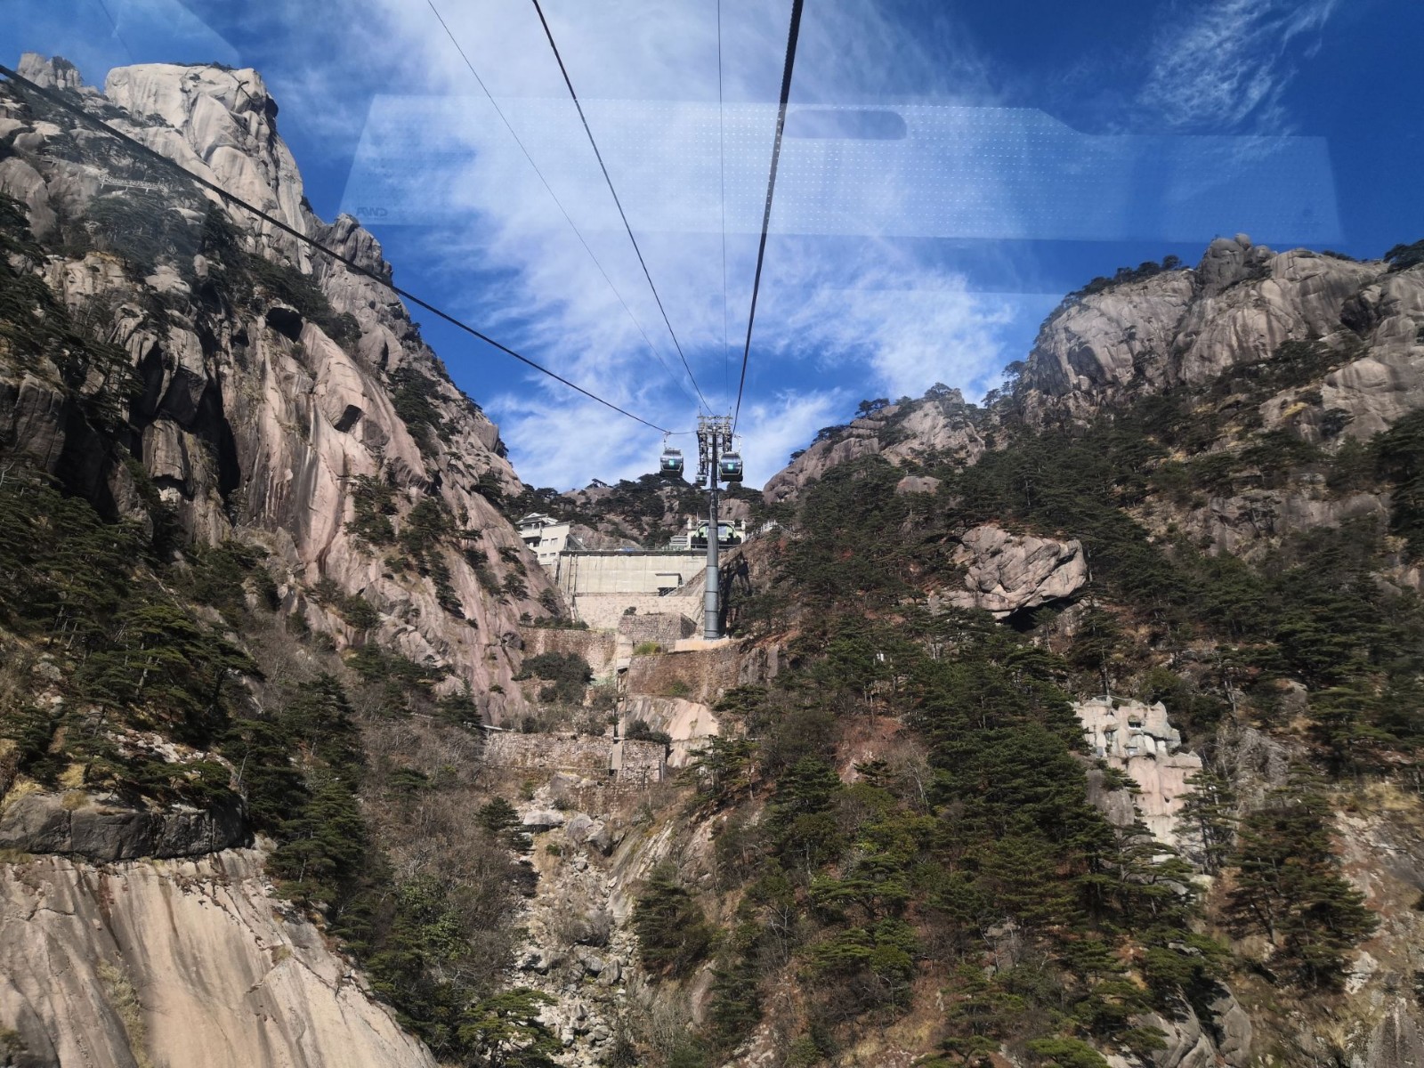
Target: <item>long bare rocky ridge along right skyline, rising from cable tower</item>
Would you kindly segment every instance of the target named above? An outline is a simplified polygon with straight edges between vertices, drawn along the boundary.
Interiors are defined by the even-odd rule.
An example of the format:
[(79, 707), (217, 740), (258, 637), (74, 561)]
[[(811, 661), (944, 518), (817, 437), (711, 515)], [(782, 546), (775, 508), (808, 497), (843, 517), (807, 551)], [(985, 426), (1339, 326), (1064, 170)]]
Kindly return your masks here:
[(1005, 429), (1084, 424), (1173, 390), (1229, 416), (1193, 451), (1273, 430), (1368, 439), (1424, 403), (1424, 271), (1218, 238), (1196, 268), (1148, 263), (1071, 293), (1008, 372), (983, 407), (936, 386), (827, 427), (768, 481), (768, 501), (863, 456), (964, 466)]

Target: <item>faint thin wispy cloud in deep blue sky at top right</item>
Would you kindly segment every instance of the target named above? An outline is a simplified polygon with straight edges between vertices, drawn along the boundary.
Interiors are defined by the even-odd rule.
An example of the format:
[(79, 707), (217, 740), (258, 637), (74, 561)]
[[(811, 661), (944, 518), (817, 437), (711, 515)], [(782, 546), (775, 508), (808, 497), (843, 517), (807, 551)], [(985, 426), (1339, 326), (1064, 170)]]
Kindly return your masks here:
[[(1290, 48), (1320, 34), (1337, 0), (1210, 0), (1158, 37), (1139, 104), (1178, 128), (1286, 132)], [(1310, 54), (1319, 40), (1302, 47)]]

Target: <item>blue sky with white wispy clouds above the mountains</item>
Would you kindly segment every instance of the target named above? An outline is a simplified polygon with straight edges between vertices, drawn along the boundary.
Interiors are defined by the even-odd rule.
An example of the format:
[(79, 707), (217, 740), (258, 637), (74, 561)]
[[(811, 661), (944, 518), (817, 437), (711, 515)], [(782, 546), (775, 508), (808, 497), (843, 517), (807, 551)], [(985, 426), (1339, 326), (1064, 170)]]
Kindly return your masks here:
[[(127, 63), (258, 68), (318, 214), (357, 214), (404, 286), (691, 426), (533, 6), (436, 6), (598, 263), (427, 0), (7, 0), (3, 51), (63, 54), (97, 84)], [(731, 407), (789, 0), (722, 0), (721, 110), (716, 0), (544, 7), (693, 375)], [(1417, 0), (807, 0), (749, 480), (864, 397), (946, 382), (978, 399), (1065, 290), (1121, 265), (1195, 262), (1239, 231), (1358, 256), (1420, 238), (1420, 56)], [(655, 433), (437, 323), (426, 336), (525, 480), (651, 468)]]

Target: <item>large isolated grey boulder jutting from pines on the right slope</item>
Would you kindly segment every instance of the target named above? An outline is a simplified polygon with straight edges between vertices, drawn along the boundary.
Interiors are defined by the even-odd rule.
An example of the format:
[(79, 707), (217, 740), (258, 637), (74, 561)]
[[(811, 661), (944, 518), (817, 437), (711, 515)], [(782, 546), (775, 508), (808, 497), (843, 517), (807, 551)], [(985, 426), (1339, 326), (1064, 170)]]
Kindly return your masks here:
[(963, 534), (950, 560), (964, 568), (964, 590), (947, 591), (944, 600), (997, 618), (1062, 601), (1088, 582), (1078, 541), (1010, 534), (991, 523)]

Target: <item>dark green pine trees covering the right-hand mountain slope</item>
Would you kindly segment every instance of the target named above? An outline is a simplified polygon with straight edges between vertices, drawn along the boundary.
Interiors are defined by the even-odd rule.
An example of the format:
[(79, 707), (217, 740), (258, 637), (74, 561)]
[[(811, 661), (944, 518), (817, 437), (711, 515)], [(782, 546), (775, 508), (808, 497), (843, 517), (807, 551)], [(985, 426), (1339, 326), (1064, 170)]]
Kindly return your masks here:
[[(1390, 443), (1371, 449), (1371, 477), (1388, 477)], [(679, 974), (699, 950), (715, 964), (709, 1024), (679, 1064), (735, 1048), (787, 968), (806, 993), (796, 1064), (909, 1011), (927, 978), (946, 1005), (936, 1064), (988, 1064), (1007, 1044), (1027, 1062), (1075, 1067), (1104, 1064), (1099, 1049), (1159, 1048), (1153, 1012), (1209, 1018), (1243, 964), (1226, 934), (1265, 936), (1273, 951), (1257, 967), (1277, 983), (1343, 981), (1376, 917), (1331, 846), (1331, 782), (1302, 760), (1246, 806), (1203, 773), (1185, 839), (1229, 887), (1208, 903), (1193, 864), (1089, 803), (1069, 693), (1105, 675), (1135, 685), (1205, 742), (1232, 715), (1270, 728), (1279, 681), (1299, 679), (1316, 759), (1351, 776), (1417, 743), (1418, 703), (1396, 698), (1418, 675), (1424, 617), (1371, 578), (1383, 530), (1317, 531), (1259, 568), (1151, 538), (1128, 508), (1155, 491), (1163, 456), (1143, 422), (1119, 417), (1024, 434), (965, 471), (930, 464), (944, 480), (934, 497), (897, 494), (903, 470), (879, 459), (809, 487), (776, 580), (733, 605), (742, 632), (796, 629), (792, 669), (725, 698), (746, 736), (713, 739), (693, 773), (702, 812), (721, 813), (718, 879), (739, 901), (735, 923), (702, 948), (676, 937), (702, 920), (686, 887), (664, 877), (645, 897), (654, 971)], [(988, 520), (1082, 538), (1104, 605), (1081, 612), (1071, 639), (1052, 637), (1051, 612), (1008, 627), (926, 611), (923, 591), (957, 578), (956, 533)], [(1159, 666), (1203, 639), (1219, 648), (1215, 675)], [(847, 785), (839, 743), (886, 716), (911, 740)]]

